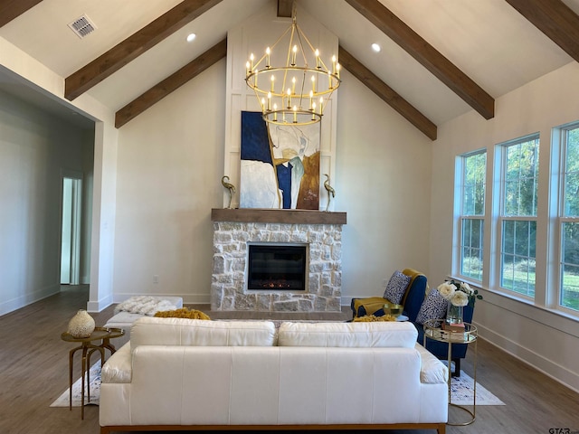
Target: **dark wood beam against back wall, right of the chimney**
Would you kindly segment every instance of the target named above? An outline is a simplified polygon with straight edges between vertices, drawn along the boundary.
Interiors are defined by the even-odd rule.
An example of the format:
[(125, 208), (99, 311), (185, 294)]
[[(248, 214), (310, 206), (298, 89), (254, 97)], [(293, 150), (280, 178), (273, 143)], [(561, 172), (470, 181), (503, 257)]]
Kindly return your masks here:
[(406, 118), (414, 127), (421, 130), (426, 137), (431, 140), (436, 140), (436, 125), (422, 115), (420, 111), (415, 109), (412, 104), (398, 95), (392, 88), (385, 84), (384, 81), (376, 77), (372, 71), (368, 70), (341, 46), (338, 49), (338, 58), (340, 64), (346, 68), (347, 71), (350, 71), (356, 79), (362, 81), (369, 90), (372, 90), (380, 99), (383, 99), (384, 102), (400, 113), (403, 118)]

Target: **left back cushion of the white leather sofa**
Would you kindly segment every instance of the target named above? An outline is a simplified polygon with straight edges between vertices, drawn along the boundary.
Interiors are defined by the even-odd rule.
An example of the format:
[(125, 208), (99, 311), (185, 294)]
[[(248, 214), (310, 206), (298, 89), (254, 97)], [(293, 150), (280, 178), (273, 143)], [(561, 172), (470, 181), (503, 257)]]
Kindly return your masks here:
[(131, 348), (138, 345), (272, 346), (271, 321), (206, 321), (144, 316), (131, 327)]

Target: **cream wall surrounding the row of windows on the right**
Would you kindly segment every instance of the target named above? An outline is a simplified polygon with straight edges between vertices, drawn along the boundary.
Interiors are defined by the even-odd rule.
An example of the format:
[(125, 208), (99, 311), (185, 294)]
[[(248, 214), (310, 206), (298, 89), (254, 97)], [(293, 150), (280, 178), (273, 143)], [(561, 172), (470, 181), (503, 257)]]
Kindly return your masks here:
[[(488, 150), (488, 165), (496, 144), (530, 133), (540, 134), (539, 189), (548, 190), (548, 164), (553, 127), (579, 119), (579, 64), (534, 80), (496, 100), (495, 118), (485, 120), (470, 112), (439, 127), (432, 154), (432, 212), (430, 245), (431, 286), (451, 273), (452, 191), (455, 156), (480, 148)], [(489, 168), (490, 170), (490, 168)], [(490, 188), (490, 185), (489, 185)], [(545, 196), (544, 196), (545, 197)], [(545, 202), (539, 201), (539, 225), (546, 225)], [(489, 241), (489, 236), (486, 238)], [(544, 242), (537, 239), (539, 242)], [(489, 245), (489, 243), (487, 243)], [(537, 251), (537, 255), (546, 255)], [(537, 261), (538, 264), (538, 261)], [(484, 300), (477, 303), (474, 321), (479, 333), (493, 344), (531, 363), (579, 391), (579, 326), (548, 307), (534, 307), (505, 297), (483, 285)], [(537, 299), (545, 288), (536, 288)]]

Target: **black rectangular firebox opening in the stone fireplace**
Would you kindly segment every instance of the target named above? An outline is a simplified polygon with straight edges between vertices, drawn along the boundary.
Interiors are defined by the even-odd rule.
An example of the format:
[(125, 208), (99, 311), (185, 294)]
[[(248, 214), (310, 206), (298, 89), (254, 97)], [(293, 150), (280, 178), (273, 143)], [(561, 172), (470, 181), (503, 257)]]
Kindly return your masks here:
[(248, 247), (248, 289), (306, 290), (307, 245)]

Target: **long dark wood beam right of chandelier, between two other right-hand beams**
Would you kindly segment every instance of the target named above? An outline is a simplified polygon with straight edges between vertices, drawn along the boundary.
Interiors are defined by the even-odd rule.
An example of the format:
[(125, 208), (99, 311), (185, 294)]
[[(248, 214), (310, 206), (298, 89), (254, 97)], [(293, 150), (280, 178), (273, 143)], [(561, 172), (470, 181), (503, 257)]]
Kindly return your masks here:
[(495, 100), (382, 3), (378, 0), (346, 2), (431, 71), (483, 118), (490, 119), (495, 116)]

